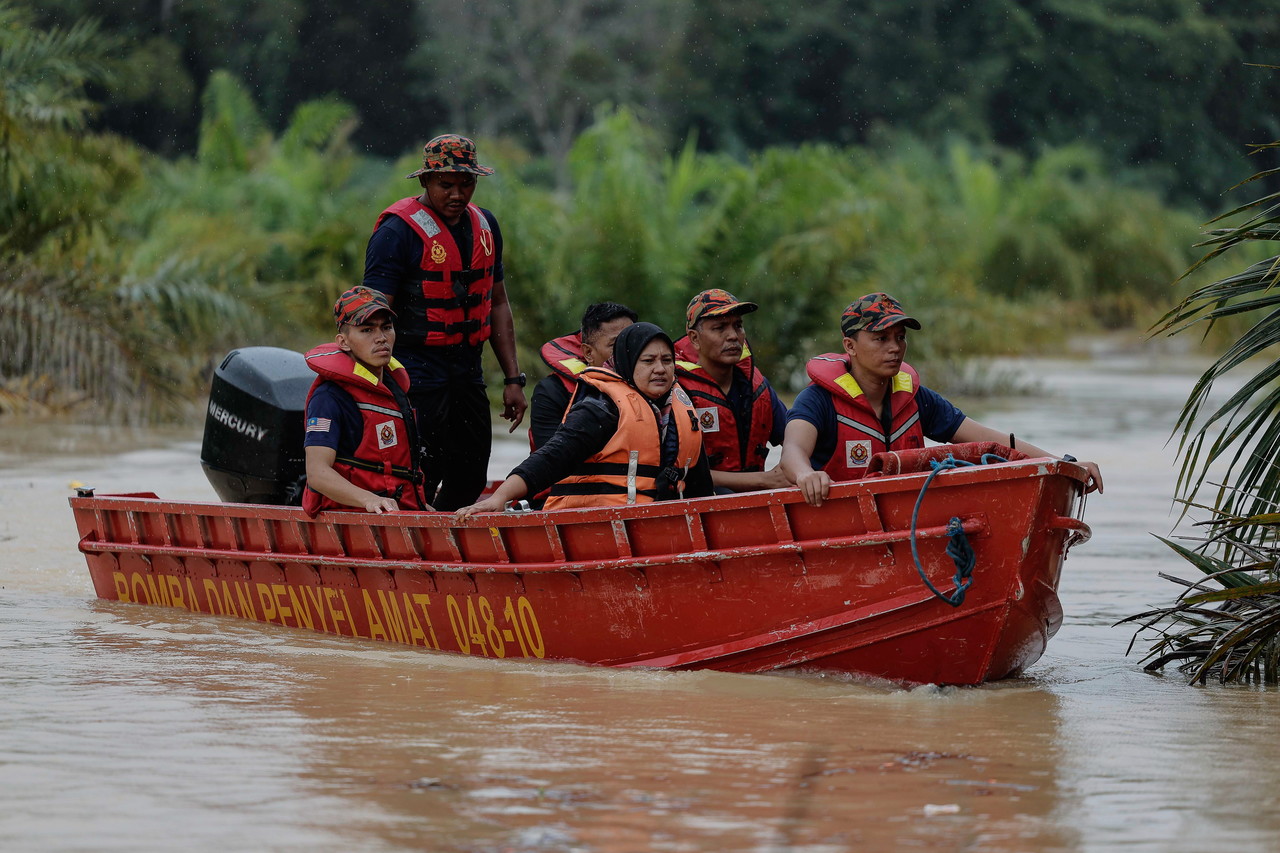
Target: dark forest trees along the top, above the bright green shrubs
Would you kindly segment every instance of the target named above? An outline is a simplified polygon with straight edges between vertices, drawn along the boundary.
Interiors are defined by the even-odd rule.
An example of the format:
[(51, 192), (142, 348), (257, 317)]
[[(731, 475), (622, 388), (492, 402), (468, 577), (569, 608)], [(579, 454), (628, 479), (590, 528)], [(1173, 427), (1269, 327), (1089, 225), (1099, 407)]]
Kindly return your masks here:
[(227, 69), (279, 131), (333, 95), (369, 151), (443, 127), (511, 136), (567, 179), (600, 104), (704, 150), (959, 134), (1033, 156), (1088, 140), (1112, 169), (1206, 201), (1271, 138), (1276, 0), (42, 0), (119, 36), (101, 127), (195, 145), (198, 93)]

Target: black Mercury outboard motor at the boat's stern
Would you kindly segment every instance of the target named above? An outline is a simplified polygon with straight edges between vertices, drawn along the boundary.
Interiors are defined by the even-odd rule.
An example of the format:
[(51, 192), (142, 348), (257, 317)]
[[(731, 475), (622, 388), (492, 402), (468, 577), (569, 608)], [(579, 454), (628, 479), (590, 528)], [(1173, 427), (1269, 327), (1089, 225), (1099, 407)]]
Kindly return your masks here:
[(218, 497), (233, 503), (298, 506), (307, 391), (316, 374), (302, 353), (232, 350), (214, 371), (200, 464)]

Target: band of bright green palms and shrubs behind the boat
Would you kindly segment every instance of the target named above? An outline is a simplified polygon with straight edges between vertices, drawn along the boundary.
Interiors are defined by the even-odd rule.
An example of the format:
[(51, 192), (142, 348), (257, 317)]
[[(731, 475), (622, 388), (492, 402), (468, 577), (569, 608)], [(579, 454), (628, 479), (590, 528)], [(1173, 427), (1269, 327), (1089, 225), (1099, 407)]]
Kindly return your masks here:
[[(67, 0), (44, 14), (77, 8)], [(518, 35), (516, 24), (532, 19), (521, 15), (539, 9), (507, 24)], [(639, 8), (628, 14), (639, 15), (635, 27), (649, 20)], [(471, 26), (463, 18), (458, 26)], [(108, 20), (132, 32), (119, 15)], [(603, 38), (590, 20), (579, 24), (580, 47), (594, 46), (573, 53), (571, 68), (595, 68), (590, 56), (626, 42), (622, 31)], [(168, 50), (147, 44), (155, 55)], [(141, 86), (137, 55), (120, 50), (92, 23), (40, 28), (0, 0), (0, 67), (17, 69), (0, 74), (9, 188), (0, 199), (0, 411), (182, 414), (228, 348), (302, 348), (328, 336), (328, 306), (360, 280), (376, 213), (416, 191), (402, 175), (426, 129), (415, 127), (388, 163), (361, 152), (369, 117), (351, 104), (323, 90), (294, 104), (283, 83), (251, 90), (227, 70), (189, 77), (202, 79), (202, 93), (187, 152), (156, 154), (95, 128), (97, 105), (119, 118), (120, 92)], [(174, 86), (186, 86), (183, 73), (173, 72)], [(652, 77), (627, 81), (618, 92), (652, 90), (636, 82)], [(562, 152), (532, 131), (479, 140), (499, 172), (476, 200), (503, 227), (522, 362), (532, 370), (541, 341), (572, 329), (594, 300), (626, 301), (678, 329), (689, 296), (714, 286), (765, 306), (753, 318), (754, 348), (781, 386), (808, 355), (835, 348), (833, 318), (873, 289), (893, 292), (928, 324), (913, 361), (952, 365), (1078, 330), (1146, 327), (1149, 306), (1167, 300), (1167, 283), (1190, 263), (1194, 213), (1117, 181), (1102, 149), (1018, 152), (881, 129), (749, 151), (721, 128), (726, 151), (717, 152), (643, 118), (650, 114), (644, 104), (600, 108)]]

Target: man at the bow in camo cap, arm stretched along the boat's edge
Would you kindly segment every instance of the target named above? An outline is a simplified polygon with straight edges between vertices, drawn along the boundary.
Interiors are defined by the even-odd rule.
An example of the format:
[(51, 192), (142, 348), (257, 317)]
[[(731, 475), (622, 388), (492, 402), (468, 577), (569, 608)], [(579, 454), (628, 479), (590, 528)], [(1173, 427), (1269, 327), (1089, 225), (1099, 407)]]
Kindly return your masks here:
[[(888, 293), (868, 293), (840, 318), (844, 352), (810, 359), (812, 383), (787, 415), (782, 467), (808, 503), (819, 506), (831, 483), (855, 480), (886, 450), (941, 443), (998, 442), (1029, 456), (1052, 453), (1018, 441), (1011, 433), (983, 426), (920, 384), (908, 365), (906, 330), (920, 323)], [(1087, 491), (1102, 491), (1093, 462)]]

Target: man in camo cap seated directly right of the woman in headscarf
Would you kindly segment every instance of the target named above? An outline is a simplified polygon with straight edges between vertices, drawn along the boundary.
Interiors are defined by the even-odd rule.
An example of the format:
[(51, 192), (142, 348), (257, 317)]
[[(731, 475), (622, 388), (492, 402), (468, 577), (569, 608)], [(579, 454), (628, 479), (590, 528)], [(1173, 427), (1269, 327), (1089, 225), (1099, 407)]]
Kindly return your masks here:
[(781, 466), (764, 470), (769, 444), (782, 444), (787, 407), (755, 366), (742, 315), (755, 311), (728, 291), (689, 300), (686, 334), (676, 341), (676, 375), (694, 401), (717, 492), (788, 488)]

